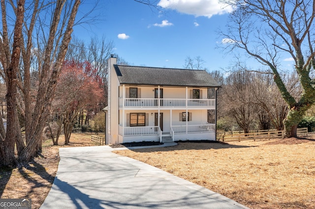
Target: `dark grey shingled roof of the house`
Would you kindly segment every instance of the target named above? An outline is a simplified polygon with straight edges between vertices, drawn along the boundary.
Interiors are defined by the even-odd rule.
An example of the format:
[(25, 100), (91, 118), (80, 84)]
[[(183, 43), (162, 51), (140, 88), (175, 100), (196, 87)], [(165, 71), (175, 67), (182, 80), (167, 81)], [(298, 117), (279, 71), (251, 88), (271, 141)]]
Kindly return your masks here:
[(121, 84), (220, 87), (204, 70), (114, 65)]

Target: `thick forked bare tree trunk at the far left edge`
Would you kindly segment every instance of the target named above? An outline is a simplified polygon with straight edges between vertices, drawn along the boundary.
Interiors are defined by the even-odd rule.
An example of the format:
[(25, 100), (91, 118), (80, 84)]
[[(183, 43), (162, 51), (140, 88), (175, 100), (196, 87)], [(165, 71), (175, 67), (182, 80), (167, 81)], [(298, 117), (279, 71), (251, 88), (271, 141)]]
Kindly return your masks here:
[[(4, 69), (4, 76), (7, 87), (6, 101), (7, 105), (7, 131), (3, 132), (3, 124), (1, 122), (0, 135), (0, 162), (3, 165), (10, 166), (15, 164), (14, 145), (17, 137), (16, 128), (19, 127), (18, 114), (16, 109), (16, 89), (17, 89), (17, 72), (19, 67), (19, 60), (21, 54), (22, 42), (22, 27), (24, 18), (25, 0), (19, 0), (16, 8), (16, 21), (14, 26), (13, 48), (10, 53), (9, 37), (7, 33), (6, 23), (6, 5), (5, 1), (1, 0), (2, 12), (2, 42), (0, 48), (2, 49), (1, 64)], [(20, 133), (21, 134), (21, 133)], [(5, 135), (5, 140), (3, 136)]]

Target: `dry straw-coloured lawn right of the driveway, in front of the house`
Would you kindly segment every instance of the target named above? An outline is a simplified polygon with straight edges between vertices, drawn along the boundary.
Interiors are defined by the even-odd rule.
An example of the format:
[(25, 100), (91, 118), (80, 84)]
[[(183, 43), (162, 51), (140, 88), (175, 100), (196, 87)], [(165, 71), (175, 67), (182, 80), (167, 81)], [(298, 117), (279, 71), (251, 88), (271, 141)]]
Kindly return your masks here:
[(115, 151), (252, 209), (315, 208), (315, 140), (179, 143)]

